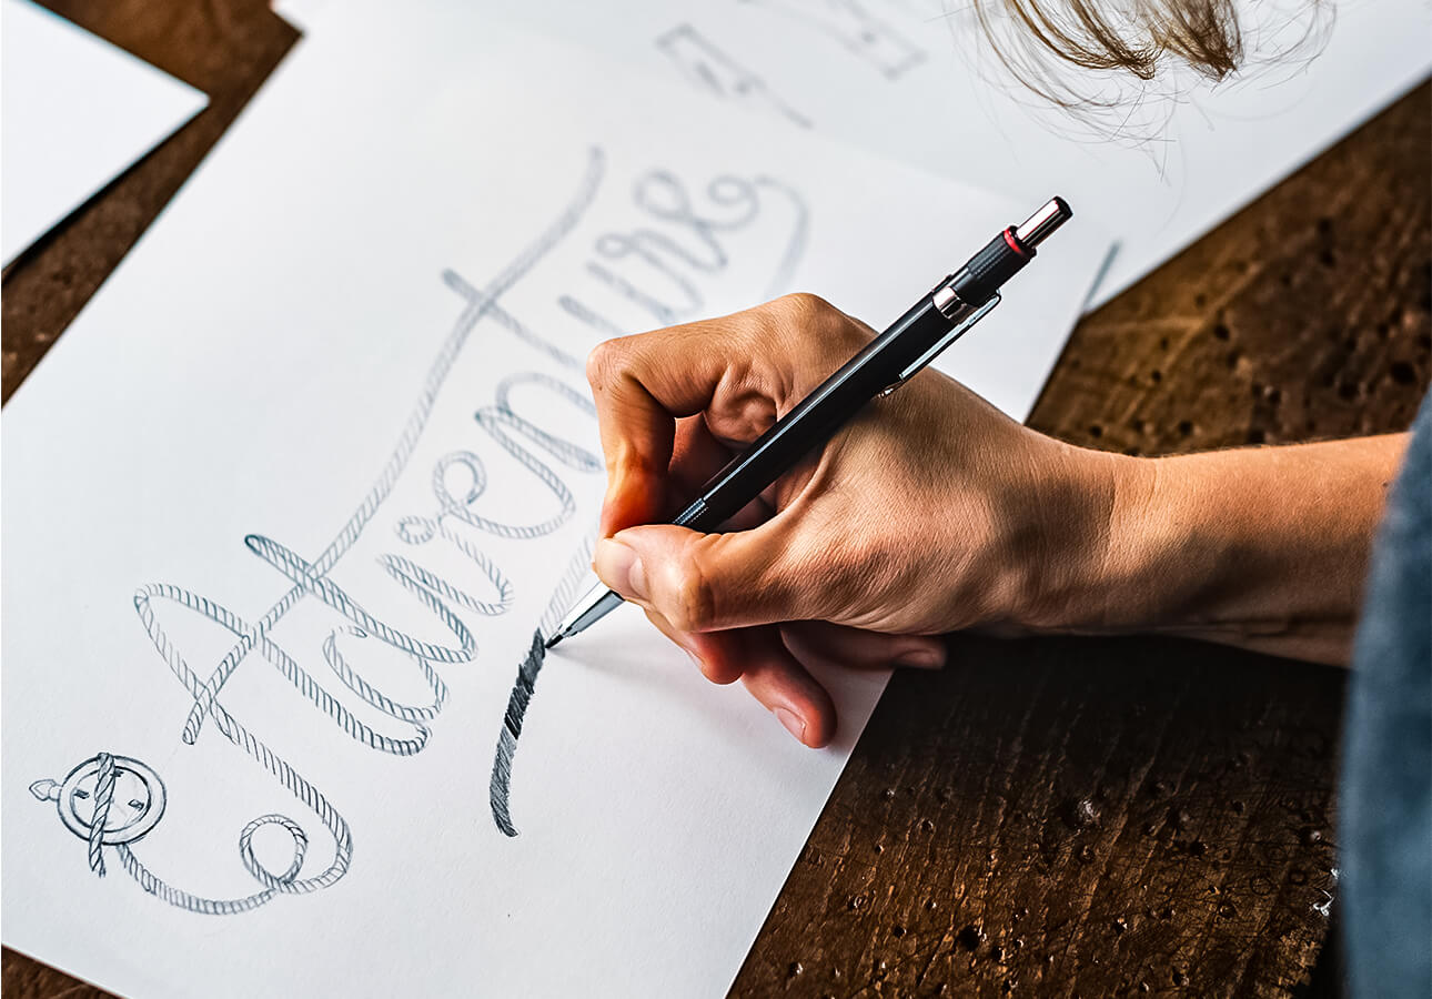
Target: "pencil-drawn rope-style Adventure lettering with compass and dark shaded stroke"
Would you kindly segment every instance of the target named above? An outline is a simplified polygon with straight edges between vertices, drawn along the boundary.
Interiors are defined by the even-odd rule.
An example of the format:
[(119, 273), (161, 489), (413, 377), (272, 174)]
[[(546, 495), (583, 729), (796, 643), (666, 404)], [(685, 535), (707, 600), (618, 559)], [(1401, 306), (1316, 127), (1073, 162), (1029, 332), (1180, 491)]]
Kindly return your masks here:
[[(571, 238), (603, 190), (606, 172), (604, 153), (591, 149), (576, 190), (556, 218), (481, 288), (453, 271), (442, 273), (447, 288), (458, 296), (461, 311), (427, 371), (392, 451), (351, 517), (314, 558), (305, 558), (265, 534), (243, 538), (248, 551), (284, 583), (278, 598), (266, 610), (246, 617), (169, 583), (149, 583), (135, 593), (139, 623), (159, 658), (192, 700), (180, 733), (183, 744), (195, 744), (206, 726), (218, 730), (243, 757), (316, 816), (332, 839), (331, 859), (321, 870), (305, 876), (305, 869), (311, 866), (311, 833), (289, 816), (268, 813), (249, 820), (238, 837), (241, 866), (258, 883), (256, 890), (215, 897), (175, 887), (140, 863), (132, 849), (165, 812), (163, 781), (135, 759), (99, 753), (72, 770), (64, 781), (39, 780), (30, 789), (37, 799), (56, 801), (64, 826), (86, 840), (89, 864), (96, 874), (105, 874), (105, 847), (110, 847), (140, 889), (172, 906), (202, 915), (251, 912), (281, 895), (316, 892), (342, 879), (354, 850), (348, 820), (295, 766), (225, 707), (225, 686), (256, 653), (316, 710), (315, 718), (325, 717), (355, 746), (398, 757), (421, 753), (451, 700), (444, 668), (474, 663), (478, 656), (478, 621), (508, 614), (516, 607), (514, 584), (483, 551), (480, 538), (528, 542), (554, 534), (577, 514), (573, 487), (564, 475), (594, 475), (603, 468), (600, 455), (590, 447), (551, 429), (551, 421), (566, 414), (589, 422), (594, 416), (584, 385), (571, 379), (581, 369), (586, 348), (599, 338), (650, 326), (650, 319), (679, 322), (699, 315), (706, 306), (702, 282), (726, 279), (730, 263), (726, 240), (752, 232), (763, 209), (772, 206), (779, 209), (776, 218), (783, 219), (785, 233), (779, 239), (759, 240), (779, 248), (779, 259), (769, 271), (766, 286), (759, 291), (768, 295), (788, 291), (805, 248), (808, 226), (806, 209), (796, 192), (770, 177), (717, 176), (696, 195), (670, 170), (656, 169), (642, 175), (633, 187), (637, 225), (626, 232), (597, 236), (584, 269), (558, 279), (558, 286), (566, 291), (550, 301), (554, 316), (561, 319), (560, 326), (569, 331), (569, 336), (576, 331), (583, 339), (561, 343), (543, 335), (538, 326), (550, 322), (524, 322), (504, 308), (503, 298), (524, 279), (530, 281), (534, 269)], [(705, 200), (705, 206), (697, 206), (697, 198)], [(779, 205), (773, 205), (776, 202)], [(759, 292), (752, 289), (750, 296), (755, 293)], [(510, 333), (557, 374), (508, 374), (497, 384), (493, 402), (468, 411), (471, 424), (428, 434), (444, 441), (461, 439), (463, 444), (445, 451), (428, 467), (425, 508), (392, 511), (388, 507), (394, 489), (428, 431), (448, 375), (481, 323)], [(533, 412), (530, 399), (534, 394), (544, 399), (540, 414)], [(527, 412), (523, 412), (518, 398), (528, 399)], [(505, 461), (516, 462), (533, 481), (490, 481), (481, 452), (493, 449)], [(484, 497), (504, 487), (523, 497), (524, 511), (533, 511), (521, 522), (500, 520), (481, 508)], [(379, 515), (388, 518), (391, 535), (369, 530)], [(341, 578), (344, 558), (365, 537), (375, 544), (382, 544), (377, 540), (385, 537), (392, 548), (374, 557), (381, 578), (392, 584), (387, 593), (357, 594)], [(461, 570), (434, 571), (430, 560), (440, 557)], [(566, 610), (589, 560), (590, 541), (558, 583), (537, 623), (538, 635), (554, 627)], [(478, 593), (471, 591), (474, 585), (480, 587)], [(299, 607), (308, 614), (329, 618), (326, 635), (308, 653), (295, 651), (292, 640), (282, 634), (285, 618)], [(398, 624), (411, 618), (414, 608), (430, 615), (427, 620), (440, 628), (440, 638), (420, 637), (411, 625)], [(165, 627), (162, 617), (176, 611), (203, 627), (216, 627), (223, 641), (231, 643), (212, 668), (190, 663), (180, 643)], [(540, 650), (540, 645), (538, 638), (536, 648)], [(361, 660), (378, 647), (397, 651), (402, 661), (411, 664), (414, 676), (428, 691), (417, 698), (420, 703), (400, 703), (365, 678)], [(319, 681), (315, 676), (319, 670), (312, 668), (314, 660), (321, 660), (322, 667), (332, 673), (337, 687), (325, 687)], [(541, 656), (528, 654), (518, 670), (493, 764), (493, 820), (505, 836), (517, 833), (507, 803), (511, 763), (540, 667)], [(367, 713), (372, 724), (359, 717), (359, 711)], [(395, 728), (379, 730), (372, 716), (379, 716), (382, 723)], [(92, 749), (86, 747), (87, 751)], [(265, 862), (251, 847), (253, 834), (265, 827), (288, 834), (291, 854), (286, 863)]]

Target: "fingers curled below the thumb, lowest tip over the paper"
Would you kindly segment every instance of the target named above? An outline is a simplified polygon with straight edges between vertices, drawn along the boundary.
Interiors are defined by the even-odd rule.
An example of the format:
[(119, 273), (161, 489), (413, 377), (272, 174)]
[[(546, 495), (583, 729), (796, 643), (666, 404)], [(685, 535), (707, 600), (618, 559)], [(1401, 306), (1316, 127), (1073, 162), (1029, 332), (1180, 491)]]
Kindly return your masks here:
[(647, 613), (647, 618), (696, 661), (707, 680), (726, 684), (739, 678), (800, 743), (821, 749), (835, 736), (835, 703), (790, 656), (778, 628), (690, 634), (677, 631), (660, 614)]

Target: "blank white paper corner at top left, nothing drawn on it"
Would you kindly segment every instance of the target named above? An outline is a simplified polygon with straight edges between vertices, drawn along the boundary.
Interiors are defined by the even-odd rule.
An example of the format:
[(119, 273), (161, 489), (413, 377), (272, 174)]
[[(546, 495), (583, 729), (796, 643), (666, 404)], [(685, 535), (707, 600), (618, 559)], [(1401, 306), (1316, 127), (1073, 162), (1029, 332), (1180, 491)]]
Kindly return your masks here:
[(29, 3), (0, 17), (0, 259), (9, 263), (209, 99)]

